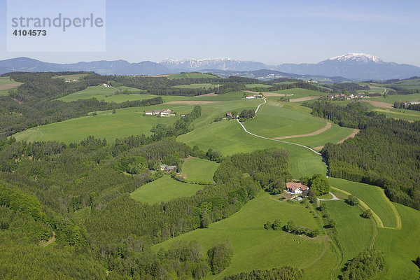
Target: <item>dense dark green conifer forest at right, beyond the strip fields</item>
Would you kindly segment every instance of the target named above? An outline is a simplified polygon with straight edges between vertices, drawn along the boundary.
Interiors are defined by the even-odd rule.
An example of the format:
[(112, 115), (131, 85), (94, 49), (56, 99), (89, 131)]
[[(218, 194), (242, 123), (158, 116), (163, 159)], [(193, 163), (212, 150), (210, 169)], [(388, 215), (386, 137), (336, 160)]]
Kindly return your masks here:
[(379, 186), (393, 202), (420, 209), (420, 122), (386, 118), (360, 102), (309, 106), (314, 116), (361, 129), (353, 139), (324, 146), (330, 176)]

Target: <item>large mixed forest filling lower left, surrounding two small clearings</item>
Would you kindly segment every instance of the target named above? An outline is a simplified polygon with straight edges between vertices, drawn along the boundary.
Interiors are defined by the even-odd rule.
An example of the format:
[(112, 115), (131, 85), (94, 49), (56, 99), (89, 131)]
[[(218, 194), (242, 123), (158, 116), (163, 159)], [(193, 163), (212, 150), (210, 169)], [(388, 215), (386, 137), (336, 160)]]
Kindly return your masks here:
[[(196, 245), (158, 254), (150, 246), (231, 216), (261, 188), (281, 188), (290, 176), (287, 153), (270, 149), (221, 158), (174, 141), (200, 112), (197, 106), (181, 123), (115, 144), (93, 137), (69, 145), (0, 141), (0, 247), (7, 256), (1, 275), (104, 279), (108, 270), (112, 279), (200, 279), (224, 269), (231, 254), (226, 246), (225, 255), (218, 255), (223, 253), (219, 248), (195, 259), (174, 251), (188, 252)], [(221, 161), (216, 185), (161, 204), (130, 198), (158, 178), (151, 170), (160, 162), (174, 165), (188, 155)], [(53, 251), (38, 245), (53, 236)], [(30, 258), (32, 265), (24, 265)], [(57, 265), (50, 264), (51, 258)]]

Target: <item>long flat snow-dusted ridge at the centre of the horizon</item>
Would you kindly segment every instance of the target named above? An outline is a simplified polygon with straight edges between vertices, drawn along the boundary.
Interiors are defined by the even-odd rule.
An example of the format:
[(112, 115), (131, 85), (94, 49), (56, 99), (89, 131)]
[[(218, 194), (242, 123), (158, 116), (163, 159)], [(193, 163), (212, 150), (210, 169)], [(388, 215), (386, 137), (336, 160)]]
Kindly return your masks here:
[(198, 71), (204, 69), (217, 69), (224, 71), (252, 71), (269, 67), (261, 62), (241, 61), (228, 57), (203, 59), (168, 58), (160, 62), (160, 64), (169, 69), (186, 69), (188, 71)]

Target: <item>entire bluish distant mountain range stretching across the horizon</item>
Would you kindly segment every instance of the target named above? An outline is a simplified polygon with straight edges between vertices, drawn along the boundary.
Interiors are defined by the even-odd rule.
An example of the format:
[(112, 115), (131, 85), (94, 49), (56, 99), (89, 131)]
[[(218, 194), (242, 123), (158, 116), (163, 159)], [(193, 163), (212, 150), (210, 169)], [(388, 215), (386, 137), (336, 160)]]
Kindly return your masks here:
[(420, 76), (420, 67), (395, 62), (384, 62), (379, 57), (365, 53), (348, 53), (326, 59), (316, 64), (280, 64), (267, 65), (261, 62), (241, 61), (232, 58), (205, 59), (165, 59), (164, 61), (130, 63), (125, 60), (101, 60), (57, 64), (41, 62), (27, 57), (18, 57), (0, 61), (0, 73), (10, 71), (94, 71), (99, 74), (116, 75), (159, 75), (190, 71), (209, 71), (212, 73), (230, 73), (272, 71), (277, 76), (293, 78), (296, 75), (345, 77), (350, 80), (386, 80), (391, 78), (409, 78)]

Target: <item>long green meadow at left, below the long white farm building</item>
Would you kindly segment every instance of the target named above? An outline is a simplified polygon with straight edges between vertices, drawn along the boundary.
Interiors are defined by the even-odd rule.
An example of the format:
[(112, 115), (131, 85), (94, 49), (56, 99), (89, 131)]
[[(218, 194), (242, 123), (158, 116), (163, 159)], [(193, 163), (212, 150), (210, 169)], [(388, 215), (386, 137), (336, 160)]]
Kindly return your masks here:
[[(145, 110), (163, 109), (165, 104), (118, 109), (115, 114), (111, 111), (98, 112), (97, 116), (85, 116), (65, 120), (60, 123), (33, 127), (29, 130), (14, 134), (18, 141), (63, 141), (64, 143), (78, 142), (85, 137), (106, 138), (113, 141), (116, 138), (128, 137), (130, 135), (151, 134), (151, 128), (158, 123), (171, 125), (178, 116), (158, 118), (155, 116), (143, 116)], [(178, 113), (187, 113), (191, 106), (172, 105), (171, 109)]]

